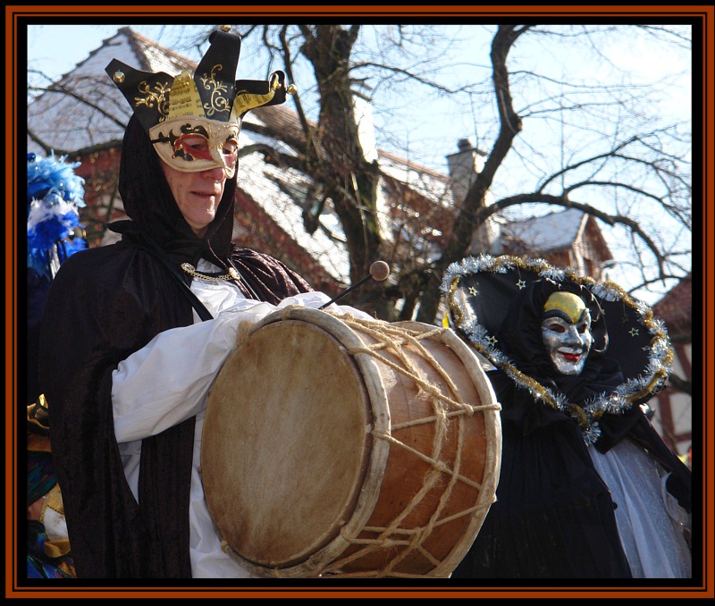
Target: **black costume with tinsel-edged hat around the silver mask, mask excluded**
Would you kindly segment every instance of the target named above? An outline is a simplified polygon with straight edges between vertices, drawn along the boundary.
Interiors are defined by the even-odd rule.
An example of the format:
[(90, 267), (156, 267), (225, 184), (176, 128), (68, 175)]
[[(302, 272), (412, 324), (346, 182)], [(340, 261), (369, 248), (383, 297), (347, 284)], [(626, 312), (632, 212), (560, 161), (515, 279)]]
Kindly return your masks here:
[[(663, 383), (661, 361), (668, 354), (662, 327), (642, 324), (650, 316), (614, 296), (620, 293), (538, 260), (469, 258), (450, 268), (443, 290), (458, 332), (495, 366), (487, 375), (502, 407), (497, 501), (452, 577), (631, 577), (614, 513), (618, 504), (589, 448), (603, 453), (626, 437), (633, 440), (672, 472), (669, 491), (690, 510), (690, 471), (639, 406)], [(555, 290), (573, 292), (591, 312), (593, 347), (579, 375), (559, 374), (544, 349), (543, 307)], [(622, 324), (626, 317), (638, 328)], [(632, 333), (634, 341), (614, 342), (620, 334), (609, 341), (607, 321), (618, 323), (611, 336)], [(624, 388), (636, 372), (641, 375)]]

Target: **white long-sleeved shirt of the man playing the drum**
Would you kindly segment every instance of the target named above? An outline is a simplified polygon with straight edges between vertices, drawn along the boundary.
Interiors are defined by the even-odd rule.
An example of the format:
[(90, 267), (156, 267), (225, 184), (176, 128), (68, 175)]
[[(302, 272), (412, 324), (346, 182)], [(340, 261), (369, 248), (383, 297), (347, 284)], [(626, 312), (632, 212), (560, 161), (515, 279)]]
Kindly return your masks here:
[[(201, 261), (199, 272), (218, 268)], [(124, 475), (139, 501), (141, 441), (190, 417), (196, 417), (189, 496), (189, 551), (193, 578), (250, 578), (252, 575), (221, 549), (221, 539), (206, 507), (199, 474), (201, 433), (208, 391), (225, 360), (235, 349), (242, 322), (258, 322), (290, 305), (320, 307), (329, 298), (321, 292), (301, 293), (278, 306), (245, 299), (230, 282), (195, 279), (191, 290), (214, 316), (201, 322), (196, 311), (190, 326), (161, 332), (123, 360), (114, 371), (112, 406), (114, 433), (122, 454)], [(368, 318), (352, 307), (332, 304), (330, 310)]]

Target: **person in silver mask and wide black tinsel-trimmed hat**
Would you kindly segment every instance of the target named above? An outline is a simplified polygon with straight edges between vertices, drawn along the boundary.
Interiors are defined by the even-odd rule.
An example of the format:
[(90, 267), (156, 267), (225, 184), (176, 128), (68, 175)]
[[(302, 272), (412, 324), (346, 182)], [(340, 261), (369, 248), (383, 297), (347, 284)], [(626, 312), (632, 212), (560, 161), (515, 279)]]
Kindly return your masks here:
[(468, 257), (442, 290), (502, 408), (497, 501), (452, 577), (690, 577), (690, 471), (640, 406), (668, 376), (663, 324), (539, 259)]

